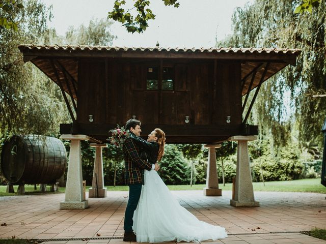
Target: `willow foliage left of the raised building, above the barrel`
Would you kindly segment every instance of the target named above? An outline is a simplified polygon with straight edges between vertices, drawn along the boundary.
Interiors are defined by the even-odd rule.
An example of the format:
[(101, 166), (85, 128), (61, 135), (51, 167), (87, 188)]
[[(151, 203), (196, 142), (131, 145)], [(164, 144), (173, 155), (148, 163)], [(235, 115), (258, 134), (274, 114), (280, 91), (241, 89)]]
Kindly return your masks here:
[(51, 10), (41, 1), (23, 1), (12, 13), (19, 28), (0, 28), (0, 137), (12, 133), (55, 134), (67, 118), (61, 92), (30, 63), (18, 45), (38, 43), (47, 29)]

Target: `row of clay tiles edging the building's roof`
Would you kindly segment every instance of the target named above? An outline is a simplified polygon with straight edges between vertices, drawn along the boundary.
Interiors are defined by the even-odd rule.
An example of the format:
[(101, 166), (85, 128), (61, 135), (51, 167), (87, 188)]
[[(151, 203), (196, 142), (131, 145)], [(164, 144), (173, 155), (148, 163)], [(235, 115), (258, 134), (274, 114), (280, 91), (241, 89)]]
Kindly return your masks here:
[(289, 48), (163, 48), (163, 47), (112, 47), (112, 46), (82, 46), (82, 45), (34, 45), (22, 44), (18, 48), (29, 50), (66, 50), (66, 51), (142, 51), (142, 52), (217, 52), (217, 53), (283, 53), (299, 54), (300, 49)]

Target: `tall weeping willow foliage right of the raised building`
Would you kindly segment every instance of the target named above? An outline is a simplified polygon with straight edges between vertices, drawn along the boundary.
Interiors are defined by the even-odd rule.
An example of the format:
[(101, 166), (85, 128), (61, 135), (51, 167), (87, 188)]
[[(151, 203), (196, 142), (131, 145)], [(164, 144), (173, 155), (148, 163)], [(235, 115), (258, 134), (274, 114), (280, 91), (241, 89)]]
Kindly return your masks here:
[(218, 46), (300, 48), (295, 67), (287, 67), (264, 82), (256, 99), (252, 120), (286, 144), (294, 125), (300, 139), (322, 141), (325, 119), (326, 3), (295, 14), (302, 1), (256, 0), (237, 8), (232, 16), (233, 34)]

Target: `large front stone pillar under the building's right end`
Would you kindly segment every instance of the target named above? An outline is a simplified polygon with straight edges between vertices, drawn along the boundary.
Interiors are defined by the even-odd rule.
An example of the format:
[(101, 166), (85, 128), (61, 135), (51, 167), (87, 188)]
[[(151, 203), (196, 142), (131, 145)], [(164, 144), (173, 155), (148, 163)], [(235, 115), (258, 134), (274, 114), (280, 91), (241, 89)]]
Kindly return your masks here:
[(248, 141), (256, 139), (256, 136), (232, 136), (229, 138), (230, 141), (238, 142), (235, 194), (234, 199), (230, 200), (232, 206), (259, 206), (259, 202), (255, 201), (254, 197), (248, 154)]

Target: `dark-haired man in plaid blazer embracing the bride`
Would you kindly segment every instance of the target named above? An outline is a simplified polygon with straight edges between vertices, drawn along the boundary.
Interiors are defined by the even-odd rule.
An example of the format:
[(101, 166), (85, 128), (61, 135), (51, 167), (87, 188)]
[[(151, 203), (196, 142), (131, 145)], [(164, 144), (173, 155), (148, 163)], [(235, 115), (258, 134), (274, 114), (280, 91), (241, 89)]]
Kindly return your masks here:
[[(126, 130), (135, 136), (141, 136), (141, 121), (129, 119), (126, 123)], [(158, 164), (148, 163), (140, 158), (140, 148), (134, 139), (128, 138), (123, 144), (123, 155), (125, 163), (125, 184), (129, 186), (129, 199), (124, 215), (124, 236), (123, 241), (136, 241), (136, 235), (132, 232), (133, 212), (137, 208), (141, 196), (142, 185), (144, 185), (144, 169), (158, 170)]]

